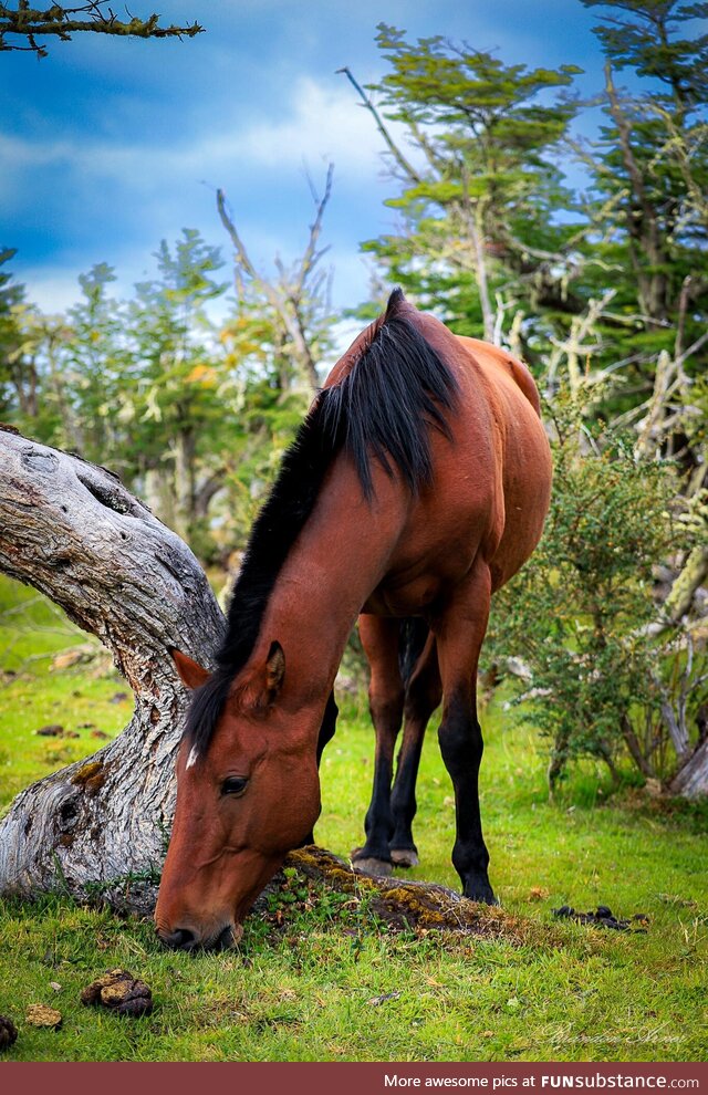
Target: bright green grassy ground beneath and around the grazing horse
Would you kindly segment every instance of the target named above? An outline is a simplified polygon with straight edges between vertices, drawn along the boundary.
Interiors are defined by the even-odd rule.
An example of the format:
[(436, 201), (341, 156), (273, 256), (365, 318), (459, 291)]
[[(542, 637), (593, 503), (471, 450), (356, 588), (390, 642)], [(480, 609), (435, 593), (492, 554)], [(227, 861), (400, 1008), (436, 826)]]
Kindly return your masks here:
[[(0, 795), (115, 733), (129, 705), (113, 676), (79, 665), (50, 671), (85, 642), (14, 587), (0, 585), (0, 651), (18, 670), (0, 682)], [(4, 605), (6, 615), (2, 616)], [(19, 628), (18, 620), (25, 620)], [(11, 647), (11, 650), (8, 650)], [(9, 659), (12, 659), (9, 661)], [(59, 722), (80, 734), (44, 739)], [(79, 729), (92, 722), (93, 728)], [(708, 1050), (708, 878), (705, 811), (606, 801), (595, 772), (546, 800), (545, 755), (530, 728), (504, 729), (491, 706), (482, 816), (492, 882), (525, 926), (504, 940), (392, 934), (366, 909), (290, 877), (270, 914), (248, 921), (238, 951), (190, 958), (162, 950), (149, 922), (77, 908), (61, 896), (0, 901), (0, 1013), (20, 1028), (17, 1060), (705, 1060)], [(321, 844), (346, 854), (361, 839), (372, 774), (365, 712), (344, 705), (323, 761)], [(435, 736), (424, 751), (417, 877), (457, 886), (449, 863), (450, 786)], [(554, 920), (570, 904), (649, 917), (648, 931), (611, 932)], [(94, 977), (123, 966), (146, 980), (155, 1010), (139, 1020), (83, 1008)], [(59, 1031), (24, 1021), (32, 1003), (63, 1015)]]

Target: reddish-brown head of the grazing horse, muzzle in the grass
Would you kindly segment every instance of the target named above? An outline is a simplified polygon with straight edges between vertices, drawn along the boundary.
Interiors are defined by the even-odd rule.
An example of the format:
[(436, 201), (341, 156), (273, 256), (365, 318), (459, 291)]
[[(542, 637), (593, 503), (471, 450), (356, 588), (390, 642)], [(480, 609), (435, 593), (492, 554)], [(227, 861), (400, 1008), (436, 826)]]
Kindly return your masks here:
[[(175, 653), (189, 688), (209, 674)], [(170, 947), (230, 946), (263, 886), (312, 831), (320, 783), (311, 728), (316, 713), (289, 706), (278, 643), (240, 674), (210, 738), (183, 739), (177, 806), (155, 921)]]

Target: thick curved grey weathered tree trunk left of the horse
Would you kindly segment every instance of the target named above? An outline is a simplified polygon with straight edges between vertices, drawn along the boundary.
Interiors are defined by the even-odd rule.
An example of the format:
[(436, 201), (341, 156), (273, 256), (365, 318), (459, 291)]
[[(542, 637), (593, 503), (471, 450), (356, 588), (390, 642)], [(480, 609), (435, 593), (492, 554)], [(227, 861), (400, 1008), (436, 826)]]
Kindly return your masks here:
[[(115, 741), (28, 788), (0, 821), (0, 893), (84, 897), (155, 874), (187, 699), (168, 651), (209, 665), (223, 626), (199, 563), (110, 471), (4, 429), (0, 571), (97, 635), (135, 696)], [(106, 893), (142, 907), (139, 887)]]

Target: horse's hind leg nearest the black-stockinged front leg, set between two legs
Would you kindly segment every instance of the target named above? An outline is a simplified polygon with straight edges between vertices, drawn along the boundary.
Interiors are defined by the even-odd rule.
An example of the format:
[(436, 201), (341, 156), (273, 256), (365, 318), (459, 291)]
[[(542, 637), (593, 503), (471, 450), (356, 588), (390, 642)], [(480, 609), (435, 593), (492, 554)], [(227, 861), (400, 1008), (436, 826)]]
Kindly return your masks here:
[(396, 779), (391, 793), (394, 818), (391, 858), (396, 867), (418, 865), (418, 849), (413, 839), (413, 818), (417, 806), (416, 780), (428, 719), (440, 702), (441, 695), (435, 636), (429, 634), (406, 684), (403, 744), (398, 753)]

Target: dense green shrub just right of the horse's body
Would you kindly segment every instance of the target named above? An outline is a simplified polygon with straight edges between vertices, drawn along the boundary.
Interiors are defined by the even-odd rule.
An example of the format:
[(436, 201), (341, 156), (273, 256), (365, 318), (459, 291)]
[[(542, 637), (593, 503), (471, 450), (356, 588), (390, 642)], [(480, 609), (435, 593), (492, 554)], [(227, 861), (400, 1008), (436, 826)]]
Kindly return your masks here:
[(488, 651), (530, 669), (512, 703), (530, 705), (552, 741), (551, 788), (581, 755), (603, 760), (615, 779), (625, 752), (645, 776), (663, 775), (660, 691), (675, 658), (649, 625), (659, 615), (653, 567), (681, 546), (675, 476), (665, 461), (638, 460), (622, 435), (589, 429), (566, 399), (553, 414), (545, 531), (496, 598)]

